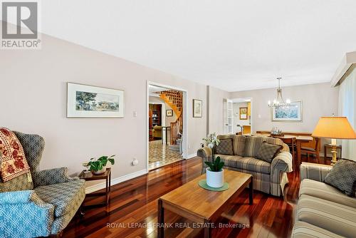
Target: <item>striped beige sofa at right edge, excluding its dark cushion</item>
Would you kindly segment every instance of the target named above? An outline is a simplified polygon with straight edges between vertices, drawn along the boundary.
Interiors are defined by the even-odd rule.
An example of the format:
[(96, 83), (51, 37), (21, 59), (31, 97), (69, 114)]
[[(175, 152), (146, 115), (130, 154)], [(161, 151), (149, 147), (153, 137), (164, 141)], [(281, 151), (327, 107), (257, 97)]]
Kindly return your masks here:
[(300, 165), (299, 201), (292, 237), (355, 237), (356, 198), (325, 184), (330, 165)]

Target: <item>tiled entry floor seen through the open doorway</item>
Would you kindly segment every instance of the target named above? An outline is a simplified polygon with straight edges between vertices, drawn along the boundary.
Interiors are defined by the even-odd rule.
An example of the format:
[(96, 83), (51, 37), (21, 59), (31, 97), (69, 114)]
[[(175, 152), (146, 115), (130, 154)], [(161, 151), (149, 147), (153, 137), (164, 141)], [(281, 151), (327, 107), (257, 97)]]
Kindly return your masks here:
[(150, 141), (149, 148), (149, 170), (183, 160), (182, 156), (179, 154), (179, 151), (169, 150), (168, 145), (162, 145), (162, 140)]

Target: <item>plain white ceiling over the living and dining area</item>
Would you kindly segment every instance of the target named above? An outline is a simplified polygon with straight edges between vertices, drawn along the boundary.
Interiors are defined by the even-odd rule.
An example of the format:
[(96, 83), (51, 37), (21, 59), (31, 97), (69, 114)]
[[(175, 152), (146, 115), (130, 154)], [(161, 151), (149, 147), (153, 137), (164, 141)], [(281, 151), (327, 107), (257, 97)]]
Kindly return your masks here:
[(42, 31), (228, 91), (328, 82), (355, 0), (51, 0)]

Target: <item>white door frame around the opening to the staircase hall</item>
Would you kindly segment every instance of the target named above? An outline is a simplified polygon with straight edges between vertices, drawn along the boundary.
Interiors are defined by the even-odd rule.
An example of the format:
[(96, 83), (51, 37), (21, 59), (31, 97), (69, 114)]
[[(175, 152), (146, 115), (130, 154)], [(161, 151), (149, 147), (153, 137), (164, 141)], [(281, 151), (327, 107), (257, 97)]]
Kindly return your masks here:
[[(182, 143), (182, 150), (183, 150), (183, 159), (187, 160), (188, 158), (188, 91), (184, 88), (178, 88), (175, 86), (169, 86), (169, 85), (164, 85), (162, 83), (157, 83), (153, 81), (147, 81), (146, 84), (146, 171), (149, 172), (148, 165), (149, 165), (149, 157), (150, 157), (150, 141), (148, 139), (149, 137), (149, 132), (148, 129), (149, 127), (149, 118), (148, 118), (148, 113), (150, 110), (149, 104), (150, 104), (150, 91), (149, 91), (149, 86), (158, 86), (162, 88), (169, 88), (173, 90), (179, 90), (182, 91), (183, 93), (183, 143)], [(165, 112), (164, 112), (165, 113)]]

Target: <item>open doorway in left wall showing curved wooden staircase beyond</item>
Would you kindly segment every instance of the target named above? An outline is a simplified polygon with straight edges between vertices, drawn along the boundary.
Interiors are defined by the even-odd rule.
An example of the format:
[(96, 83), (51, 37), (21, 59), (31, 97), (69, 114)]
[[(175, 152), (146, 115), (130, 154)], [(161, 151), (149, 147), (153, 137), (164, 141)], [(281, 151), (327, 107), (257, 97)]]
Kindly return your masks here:
[(147, 83), (147, 170), (186, 157), (186, 98), (182, 89)]

